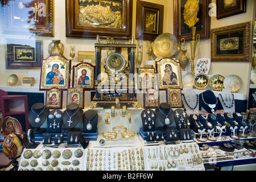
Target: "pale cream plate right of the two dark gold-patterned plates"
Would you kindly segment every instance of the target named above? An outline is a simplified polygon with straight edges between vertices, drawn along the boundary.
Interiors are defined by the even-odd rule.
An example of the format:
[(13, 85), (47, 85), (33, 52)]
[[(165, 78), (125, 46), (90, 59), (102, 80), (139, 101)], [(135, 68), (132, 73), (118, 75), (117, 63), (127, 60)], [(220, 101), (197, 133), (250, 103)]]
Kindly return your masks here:
[(224, 80), (224, 88), (230, 89), (230, 92), (237, 92), (242, 87), (242, 79), (237, 75), (229, 75)]

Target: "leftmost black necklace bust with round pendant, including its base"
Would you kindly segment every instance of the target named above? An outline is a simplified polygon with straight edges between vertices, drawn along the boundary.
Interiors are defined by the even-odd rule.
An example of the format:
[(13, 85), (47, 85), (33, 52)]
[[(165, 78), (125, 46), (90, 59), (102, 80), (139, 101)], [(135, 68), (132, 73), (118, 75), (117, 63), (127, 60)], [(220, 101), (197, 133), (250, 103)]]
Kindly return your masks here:
[(35, 122), (35, 119), (38, 117), (38, 115), (36, 115), (32, 110), (28, 112), (28, 122), (30, 123), (30, 126), (33, 128), (34, 133), (42, 134), (46, 131), (46, 129), (41, 129), (40, 126), (42, 126), (44, 121), (46, 121), (49, 109), (45, 107), (43, 103), (36, 103), (32, 105), (32, 109), (36, 114), (40, 114), (42, 112), (39, 115), (40, 122)]

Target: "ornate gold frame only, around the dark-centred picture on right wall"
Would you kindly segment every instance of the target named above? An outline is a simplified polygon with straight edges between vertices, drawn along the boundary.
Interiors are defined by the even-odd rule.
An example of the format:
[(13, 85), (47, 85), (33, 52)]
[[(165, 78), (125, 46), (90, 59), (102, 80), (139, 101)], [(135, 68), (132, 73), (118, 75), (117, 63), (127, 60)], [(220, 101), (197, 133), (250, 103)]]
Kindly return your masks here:
[[(252, 28), (252, 21), (234, 24), (232, 26), (225, 26), (220, 28), (214, 28), (211, 32), (211, 61), (222, 61), (222, 62), (250, 62), (251, 61), (251, 51), (252, 51), (252, 44), (253, 44), (253, 28)], [(230, 34), (234, 34), (236, 32), (243, 32), (243, 35), (240, 36), (242, 44), (242, 53), (223, 53), (218, 54), (217, 51), (217, 36), (225, 36), (229, 38)], [(234, 34), (237, 35), (237, 34)], [(232, 37), (231, 37), (232, 38)], [(227, 50), (232, 51), (232, 49)]]

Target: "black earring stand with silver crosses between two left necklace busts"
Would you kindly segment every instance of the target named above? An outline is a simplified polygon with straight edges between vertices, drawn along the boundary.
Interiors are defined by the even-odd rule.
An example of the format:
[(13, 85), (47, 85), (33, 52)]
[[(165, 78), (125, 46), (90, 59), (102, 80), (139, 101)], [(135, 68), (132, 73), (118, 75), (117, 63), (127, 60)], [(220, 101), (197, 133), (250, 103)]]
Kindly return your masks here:
[[(55, 112), (59, 114), (61, 117), (57, 118)], [(49, 116), (53, 116), (53, 118), (49, 118)], [(48, 114), (47, 119), (47, 131), (48, 133), (61, 133), (61, 127), (63, 122), (63, 113), (60, 110), (52, 110)]]

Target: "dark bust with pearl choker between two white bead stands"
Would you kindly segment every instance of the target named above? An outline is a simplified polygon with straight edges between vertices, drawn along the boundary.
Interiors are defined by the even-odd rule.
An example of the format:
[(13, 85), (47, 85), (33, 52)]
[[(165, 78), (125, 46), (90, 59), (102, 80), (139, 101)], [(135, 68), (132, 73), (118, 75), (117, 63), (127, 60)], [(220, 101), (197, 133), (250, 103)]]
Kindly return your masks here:
[(206, 90), (199, 95), (199, 106), (208, 113), (215, 113), (218, 109), (218, 99), (211, 90)]

